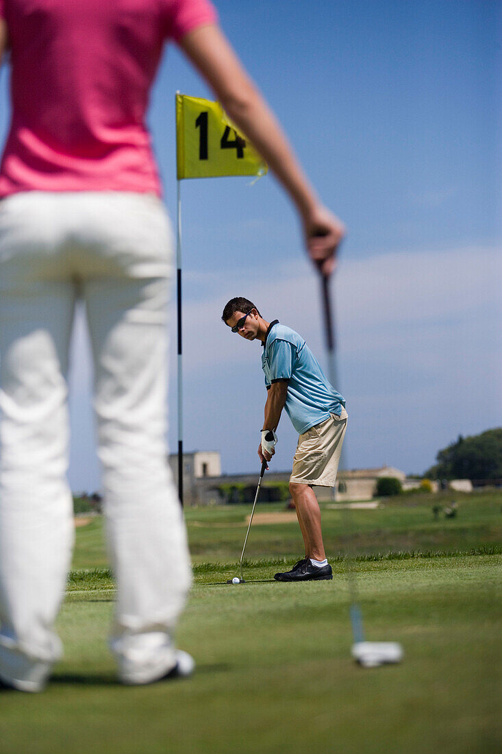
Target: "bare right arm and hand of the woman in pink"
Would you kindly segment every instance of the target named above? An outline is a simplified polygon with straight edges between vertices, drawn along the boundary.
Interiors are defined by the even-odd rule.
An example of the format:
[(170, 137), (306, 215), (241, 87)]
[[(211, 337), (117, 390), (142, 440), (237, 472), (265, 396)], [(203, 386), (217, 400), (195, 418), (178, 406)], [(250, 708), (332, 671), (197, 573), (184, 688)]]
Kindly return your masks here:
[(302, 219), (309, 256), (323, 274), (331, 274), (344, 226), (320, 204), (271, 109), (244, 71), (227, 38), (218, 26), (200, 26), (188, 32), (179, 44), (231, 120), (283, 184)]

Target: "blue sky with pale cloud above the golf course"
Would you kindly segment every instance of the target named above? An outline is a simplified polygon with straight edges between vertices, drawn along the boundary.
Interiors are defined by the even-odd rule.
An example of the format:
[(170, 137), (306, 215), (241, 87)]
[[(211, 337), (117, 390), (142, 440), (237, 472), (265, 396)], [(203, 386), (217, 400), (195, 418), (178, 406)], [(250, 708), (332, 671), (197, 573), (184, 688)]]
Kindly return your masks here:
[[(348, 228), (333, 285), (347, 464), (420, 473), (459, 433), (500, 425), (500, 3), (216, 5), (321, 198)], [(211, 97), (169, 47), (148, 122), (173, 219), (177, 89)], [(185, 449), (220, 450), (228, 473), (253, 470), (265, 400), (260, 348), (231, 336), (219, 317), (229, 298), (247, 296), (265, 318), (302, 333), (326, 364), (317, 277), (272, 176), (252, 186), (182, 182), (182, 213)], [(70, 384), (70, 481), (93, 490), (81, 318)], [(296, 441), (286, 415), (278, 434), (274, 466), (286, 470)]]

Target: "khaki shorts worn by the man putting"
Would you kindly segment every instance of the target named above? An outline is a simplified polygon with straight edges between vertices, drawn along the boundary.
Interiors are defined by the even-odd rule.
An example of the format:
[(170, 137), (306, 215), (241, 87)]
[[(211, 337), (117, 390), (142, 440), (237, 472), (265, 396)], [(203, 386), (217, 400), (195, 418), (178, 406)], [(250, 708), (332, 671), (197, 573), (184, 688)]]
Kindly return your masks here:
[(347, 412), (332, 414), (298, 437), (290, 482), (334, 487), (341, 446), (347, 429)]

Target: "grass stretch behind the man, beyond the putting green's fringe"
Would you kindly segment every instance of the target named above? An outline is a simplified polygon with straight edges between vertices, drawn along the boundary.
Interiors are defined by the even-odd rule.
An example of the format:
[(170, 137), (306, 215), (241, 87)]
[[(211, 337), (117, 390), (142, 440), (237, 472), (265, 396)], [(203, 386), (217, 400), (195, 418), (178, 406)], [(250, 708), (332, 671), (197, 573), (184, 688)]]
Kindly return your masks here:
[[(457, 517), (445, 519), (442, 513), (434, 520), (433, 505), (444, 508), (451, 499), (458, 502)], [(256, 506), (256, 513), (283, 510), (281, 503)], [(235, 562), (250, 512), (250, 505), (187, 508), (185, 519), (194, 563)], [(502, 494), (406, 495), (381, 501), (377, 510), (351, 510), (350, 516), (323, 504), (323, 537), (330, 557), (342, 556), (349, 538), (355, 552), (372, 556), (418, 551), (467, 553), (497, 546), (502, 542)], [(275, 556), (294, 560), (301, 554), (302, 538), (295, 521), (268, 526), (253, 523), (246, 547), (249, 559)], [(103, 520), (97, 516), (78, 530), (73, 568), (106, 566), (107, 562)]]

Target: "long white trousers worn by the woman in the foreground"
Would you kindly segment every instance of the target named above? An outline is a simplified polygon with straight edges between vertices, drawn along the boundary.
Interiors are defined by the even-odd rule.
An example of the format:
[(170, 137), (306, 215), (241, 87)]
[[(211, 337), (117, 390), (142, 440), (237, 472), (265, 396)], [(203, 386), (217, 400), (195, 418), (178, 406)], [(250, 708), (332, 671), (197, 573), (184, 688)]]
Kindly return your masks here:
[(191, 571), (167, 464), (170, 225), (158, 198), (26, 192), (0, 201), (0, 678), (26, 691), (60, 657), (73, 544), (66, 373), (75, 300), (93, 347), (111, 645), (126, 682), (175, 664)]

